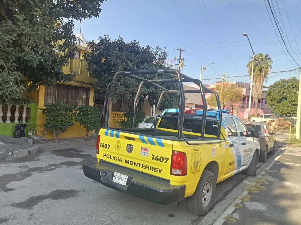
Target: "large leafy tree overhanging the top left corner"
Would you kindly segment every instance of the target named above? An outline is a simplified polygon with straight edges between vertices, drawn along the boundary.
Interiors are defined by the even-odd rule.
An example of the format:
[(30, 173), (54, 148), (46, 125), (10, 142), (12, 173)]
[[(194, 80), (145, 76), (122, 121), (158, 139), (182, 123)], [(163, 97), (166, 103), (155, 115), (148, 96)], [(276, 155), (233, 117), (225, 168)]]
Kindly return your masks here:
[(6, 65), (0, 76), (11, 76), (18, 93), (25, 87), (20, 76), (32, 87), (71, 80), (75, 73), (64, 74), (62, 67), (74, 58), (73, 20), (98, 16), (103, 1), (0, 0), (0, 60)]

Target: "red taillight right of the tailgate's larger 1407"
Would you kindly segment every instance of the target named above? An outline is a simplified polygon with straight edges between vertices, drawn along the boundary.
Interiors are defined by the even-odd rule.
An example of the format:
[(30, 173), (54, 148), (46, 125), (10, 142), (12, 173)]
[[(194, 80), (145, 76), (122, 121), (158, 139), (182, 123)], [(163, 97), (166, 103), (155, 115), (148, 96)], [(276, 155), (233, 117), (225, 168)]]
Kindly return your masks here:
[(184, 152), (172, 151), (170, 174), (175, 176), (187, 175), (187, 157)]

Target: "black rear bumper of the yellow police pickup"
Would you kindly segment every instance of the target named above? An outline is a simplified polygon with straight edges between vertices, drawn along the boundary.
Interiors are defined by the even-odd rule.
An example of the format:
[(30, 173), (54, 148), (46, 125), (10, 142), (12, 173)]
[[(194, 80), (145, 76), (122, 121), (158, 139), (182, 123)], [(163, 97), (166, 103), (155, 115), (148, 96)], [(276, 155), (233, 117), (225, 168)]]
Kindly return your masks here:
[[(178, 205), (185, 195), (185, 185), (171, 185), (166, 180), (104, 161), (93, 165), (83, 164), (83, 172), (104, 186), (160, 205)], [(126, 186), (112, 181), (114, 172), (129, 176)]]

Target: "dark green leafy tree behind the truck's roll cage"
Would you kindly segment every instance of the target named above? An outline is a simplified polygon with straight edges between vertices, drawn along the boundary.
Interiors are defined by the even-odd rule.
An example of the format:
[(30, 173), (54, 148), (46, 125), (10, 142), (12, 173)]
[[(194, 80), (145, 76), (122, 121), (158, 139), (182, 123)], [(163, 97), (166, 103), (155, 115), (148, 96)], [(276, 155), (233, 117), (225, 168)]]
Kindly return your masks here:
[[(166, 69), (165, 59), (168, 56), (166, 48), (159, 46), (141, 47), (136, 40), (124, 42), (119, 37), (112, 41), (107, 35), (99, 37), (99, 42), (90, 41), (88, 47), (91, 54), (84, 54), (85, 60), (88, 62), (88, 70), (91, 77), (97, 78), (96, 86), (106, 91), (109, 82), (113, 80), (113, 76), (118, 71), (129, 70), (151, 70)], [(141, 75), (147, 79), (176, 79), (172, 74), (147, 74)], [(127, 76), (119, 76), (114, 92), (112, 102), (116, 102), (120, 98), (135, 98), (140, 81), (129, 78)], [(177, 83), (162, 83), (162, 86), (169, 89), (178, 89)], [(144, 84), (139, 96), (139, 106), (144, 98), (148, 95), (149, 104), (152, 106), (157, 103), (160, 96), (160, 90), (149, 84)], [(179, 105), (179, 97), (177, 94), (166, 93), (161, 105), (161, 109), (166, 106)]]

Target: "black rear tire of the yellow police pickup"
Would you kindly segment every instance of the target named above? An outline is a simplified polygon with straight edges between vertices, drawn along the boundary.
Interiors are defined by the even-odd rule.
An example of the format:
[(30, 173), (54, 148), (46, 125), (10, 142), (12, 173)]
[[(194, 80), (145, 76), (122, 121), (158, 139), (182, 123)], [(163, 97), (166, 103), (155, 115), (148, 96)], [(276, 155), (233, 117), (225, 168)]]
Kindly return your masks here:
[[(203, 192), (205, 191), (204, 190), (205, 184), (208, 185), (208, 183), (211, 183), (211, 188), (212, 188), (211, 196), (209, 196), (210, 199), (204, 198), (204, 199), (206, 199), (206, 201), (203, 203), (202, 202)], [(202, 176), (200, 178), (200, 181), (197, 185), (197, 190), (195, 190), (194, 194), (191, 197), (187, 198), (187, 206), (188, 206), (189, 211), (191, 211), (195, 214), (198, 214), (200, 216), (207, 214), (213, 205), (215, 192), (216, 192), (215, 176), (211, 171), (204, 170), (202, 173)], [(206, 193), (208, 193), (208, 192), (206, 191)]]

